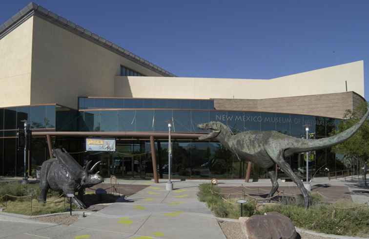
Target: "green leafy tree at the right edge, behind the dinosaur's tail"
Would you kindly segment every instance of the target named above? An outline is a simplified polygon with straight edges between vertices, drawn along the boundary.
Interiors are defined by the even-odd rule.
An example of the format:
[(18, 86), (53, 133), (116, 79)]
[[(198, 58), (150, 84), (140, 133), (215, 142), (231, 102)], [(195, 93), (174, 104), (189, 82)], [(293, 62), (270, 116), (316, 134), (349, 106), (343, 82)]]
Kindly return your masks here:
[[(343, 120), (338, 124), (333, 134), (349, 129), (356, 124), (367, 110), (367, 102), (360, 104), (356, 110), (347, 110)], [(345, 142), (332, 147), (332, 152), (344, 155), (343, 163), (346, 166), (355, 165), (360, 161), (364, 164), (364, 182), (367, 187), (367, 169), (369, 163), (369, 121), (367, 120), (360, 129)]]

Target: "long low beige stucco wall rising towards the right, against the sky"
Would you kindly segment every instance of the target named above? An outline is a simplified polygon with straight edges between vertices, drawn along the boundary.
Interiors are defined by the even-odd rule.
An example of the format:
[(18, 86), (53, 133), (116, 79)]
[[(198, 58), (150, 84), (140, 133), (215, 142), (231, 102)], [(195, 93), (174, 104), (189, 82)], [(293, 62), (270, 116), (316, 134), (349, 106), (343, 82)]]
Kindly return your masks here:
[(187, 77), (115, 78), (116, 97), (265, 99), (355, 91), (364, 97), (364, 62), (336, 65), (270, 80)]

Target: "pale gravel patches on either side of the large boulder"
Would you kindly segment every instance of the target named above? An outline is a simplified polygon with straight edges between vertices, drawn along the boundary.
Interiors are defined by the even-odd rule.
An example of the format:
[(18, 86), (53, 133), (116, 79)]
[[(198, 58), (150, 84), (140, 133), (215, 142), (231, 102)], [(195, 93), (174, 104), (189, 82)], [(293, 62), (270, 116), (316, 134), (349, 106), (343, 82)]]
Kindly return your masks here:
[[(244, 236), (241, 225), (239, 222), (233, 221), (218, 221), (220, 227), (223, 230), (223, 233), (227, 239), (246, 239)], [(326, 237), (320, 237), (311, 235), (308, 233), (300, 233), (301, 239), (329, 239)]]

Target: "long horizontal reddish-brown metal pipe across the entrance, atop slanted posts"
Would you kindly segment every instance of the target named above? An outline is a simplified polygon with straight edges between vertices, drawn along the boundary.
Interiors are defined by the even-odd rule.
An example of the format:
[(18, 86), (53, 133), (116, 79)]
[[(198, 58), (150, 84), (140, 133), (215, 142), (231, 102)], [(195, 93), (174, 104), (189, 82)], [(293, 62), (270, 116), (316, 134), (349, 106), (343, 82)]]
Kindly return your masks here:
[[(168, 133), (157, 133), (157, 132), (135, 132), (135, 131), (37, 131), (32, 132), (32, 136), (98, 136), (98, 137), (126, 137), (126, 138), (136, 138), (136, 137), (147, 137), (154, 136), (155, 138), (168, 138)], [(203, 133), (171, 133), (172, 138), (177, 139), (197, 139)]]

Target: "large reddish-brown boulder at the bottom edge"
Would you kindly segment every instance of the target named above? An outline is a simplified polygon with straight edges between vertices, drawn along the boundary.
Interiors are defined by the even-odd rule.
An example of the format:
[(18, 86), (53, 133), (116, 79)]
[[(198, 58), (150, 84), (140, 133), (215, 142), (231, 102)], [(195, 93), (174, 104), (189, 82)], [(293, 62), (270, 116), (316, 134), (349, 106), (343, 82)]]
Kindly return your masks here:
[(291, 219), (276, 212), (239, 220), (246, 239), (296, 239), (298, 235)]

